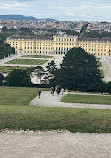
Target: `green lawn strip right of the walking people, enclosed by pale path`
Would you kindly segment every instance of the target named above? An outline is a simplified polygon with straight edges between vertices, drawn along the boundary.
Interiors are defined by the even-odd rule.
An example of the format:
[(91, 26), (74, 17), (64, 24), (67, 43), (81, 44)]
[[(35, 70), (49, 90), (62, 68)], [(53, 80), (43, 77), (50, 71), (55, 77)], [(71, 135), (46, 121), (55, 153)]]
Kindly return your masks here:
[(87, 103), (87, 104), (111, 105), (111, 96), (67, 94), (61, 99), (61, 101), (67, 102), (67, 103)]

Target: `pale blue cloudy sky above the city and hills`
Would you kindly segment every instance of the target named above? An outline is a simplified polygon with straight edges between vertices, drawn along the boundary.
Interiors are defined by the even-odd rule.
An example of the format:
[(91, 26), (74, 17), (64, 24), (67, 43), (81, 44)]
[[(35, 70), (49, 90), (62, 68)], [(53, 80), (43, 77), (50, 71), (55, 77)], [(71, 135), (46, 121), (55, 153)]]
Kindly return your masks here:
[(61, 21), (111, 21), (111, 0), (0, 0), (0, 15)]

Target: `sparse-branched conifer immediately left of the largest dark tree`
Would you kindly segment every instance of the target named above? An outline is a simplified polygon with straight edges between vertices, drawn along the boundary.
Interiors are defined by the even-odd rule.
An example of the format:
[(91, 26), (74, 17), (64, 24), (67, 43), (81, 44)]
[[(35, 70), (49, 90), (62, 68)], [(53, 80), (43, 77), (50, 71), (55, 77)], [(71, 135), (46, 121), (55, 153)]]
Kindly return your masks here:
[(46, 68), (47, 68), (47, 70), (45, 71), (44, 82), (49, 84), (51, 79), (54, 78), (55, 72), (57, 70), (57, 67), (56, 67), (54, 60), (52, 60), (50, 63), (48, 63)]

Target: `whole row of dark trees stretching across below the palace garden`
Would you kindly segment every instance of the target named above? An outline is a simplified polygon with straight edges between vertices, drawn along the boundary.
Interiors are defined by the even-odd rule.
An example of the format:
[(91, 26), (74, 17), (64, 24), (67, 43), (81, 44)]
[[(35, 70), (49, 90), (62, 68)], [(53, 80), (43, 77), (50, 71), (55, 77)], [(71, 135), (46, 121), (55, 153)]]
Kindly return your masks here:
[[(95, 56), (88, 54), (82, 48), (73, 48), (67, 52), (59, 69), (52, 61), (46, 70), (41, 66), (14, 70), (5, 78), (5, 84), (33, 86), (31, 83), (33, 75), (40, 79), (41, 84), (47, 86), (59, 85), (70, 90), (111, 93), (111, 82), (103, 82)], [(4, 78), (1, 78), (3, 81)]]

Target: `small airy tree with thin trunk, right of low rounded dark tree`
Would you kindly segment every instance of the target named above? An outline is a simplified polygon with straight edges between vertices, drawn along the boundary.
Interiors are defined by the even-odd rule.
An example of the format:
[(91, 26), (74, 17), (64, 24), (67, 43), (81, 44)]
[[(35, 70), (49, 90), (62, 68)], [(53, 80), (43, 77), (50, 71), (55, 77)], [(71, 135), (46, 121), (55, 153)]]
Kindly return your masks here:
[(41, 66), (37, 66), (34, 68), (33, 75), (37, 76), (40, 79), (41, 84), (41, 78), (44, 75), (44, 69)]

